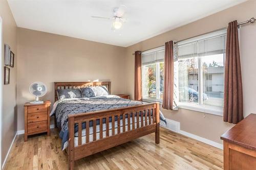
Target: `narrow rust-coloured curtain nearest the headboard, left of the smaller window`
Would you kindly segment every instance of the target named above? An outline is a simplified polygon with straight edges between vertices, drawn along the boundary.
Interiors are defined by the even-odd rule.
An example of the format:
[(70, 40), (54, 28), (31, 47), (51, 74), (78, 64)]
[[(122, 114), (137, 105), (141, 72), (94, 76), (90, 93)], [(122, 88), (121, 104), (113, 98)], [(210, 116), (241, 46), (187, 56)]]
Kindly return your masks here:
[(141, 87), (141, 52), (135, 52), (134, 100), (142, 101)]

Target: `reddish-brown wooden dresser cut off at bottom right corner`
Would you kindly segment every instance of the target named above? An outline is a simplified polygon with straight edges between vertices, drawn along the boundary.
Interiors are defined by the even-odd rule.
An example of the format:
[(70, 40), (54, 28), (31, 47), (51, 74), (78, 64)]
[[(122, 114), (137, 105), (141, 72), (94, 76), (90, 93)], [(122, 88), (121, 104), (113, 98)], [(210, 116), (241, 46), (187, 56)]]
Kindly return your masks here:
[(250, 114), (221, 136), (224, 169), (256, 169), (256, 114)]

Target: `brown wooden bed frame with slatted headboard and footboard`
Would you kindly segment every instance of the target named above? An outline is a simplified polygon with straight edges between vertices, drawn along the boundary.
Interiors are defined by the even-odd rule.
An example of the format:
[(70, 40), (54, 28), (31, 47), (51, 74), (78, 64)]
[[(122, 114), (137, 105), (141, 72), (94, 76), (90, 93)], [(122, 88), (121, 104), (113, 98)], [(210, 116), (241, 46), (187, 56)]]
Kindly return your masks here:
[[(106, 86), (111, 93), (111, 82), (55, 82), (55, 101), (58, 100), (57, 89), (67, 89), (67, 88), (79, 88), (86, 86)], [(143, 120), (143, 114), (139, 115), (136, 113), (143, 112), (150, 113), (152, 111), (152, 119), (148, 117), (150, 114), (144, 114), (145, 118)], [(128, 125), (132, 124), (132, 128), (127, 126), (120, 127), (120, 116), (125, 118), (132, 117), (132, 122), (130, 118), (127, 119)], [(137, 116), (138, 115), (138, 116)], [(117, 133), (115, 133), (115, 128), (112, 128), (112, 133), (109, 134), (109, 118), (112, 120), (117, 116)], [(142, 121), (139, 122), (139, 116), (141, 116)], [(148, 121), (147, 121), (148, 118)], [(99, 139), (96, 139), (96, 120), (99, 119)], [(103, 137), (103, 119), (106, 120), (106, 131)], [(135, 123), (137, 119), (137, 123)], [(56, 119), (55, 127), (56, 127)], [(122, 119), (121, 119), (122, 120)], [(86, 143), (82, 144), (82, 123), (86, 122), (86, 134), (89, 134), (89, 122), (93, 122), (93, 141), (89, 142), (89, 135), (86, 135)], [(137, 125), (136, 125), (137, 124)], [(78, 145), (75, 147), (74, 144), (74, 126), (78, 125)], [(115, 121), (112, 121), (112, 127), (114, 127)], [(135, 128), (135, 125), (137, 128)], [(139, 127), (140, 125), (140, 127)], [(138, 128), (139, 127), (139, 128)], [(120, 132), (122, 128), (122, 132)], [(94, 112), (87, 112), (81, 114), (69, 115), (69, 146), (68, 146), (68, 157), (69, 157), (69, 169), (74, 169), (75, 160), (81, 159), (83, 157), (95, 154), (97, 152), (104, 151), (106, 149), (115, 147), (119, 144), (131, 141), (133, 139), (139, 138), (144, 135), (155, 133), (155, 142), (159, 143), (159, 103), (149, 103), (137, 106), (123, 107), (110, 110), (100, 110)]]

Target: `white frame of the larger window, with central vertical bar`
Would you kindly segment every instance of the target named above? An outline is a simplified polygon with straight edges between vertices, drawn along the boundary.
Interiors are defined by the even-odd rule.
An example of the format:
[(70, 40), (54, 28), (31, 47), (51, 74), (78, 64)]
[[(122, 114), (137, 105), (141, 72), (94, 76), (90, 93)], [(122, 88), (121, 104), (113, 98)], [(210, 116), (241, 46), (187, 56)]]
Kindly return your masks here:
[[(223, 29), (223, 30), (212, 32), (209, 34), (189, 38), (189, 39), (186, 39), (186, 40), (178, 42), (178, 43), (186, 44), (186, 43), (200, 41), (200, 40), (213, 38), (213, 37), (217, 37), (217, 36), (225, 36), (227, 33), (226, 31), (227, 31), (226, 29)], [(178, 49), (177, 43), (176, 43), (176, 47)], [(225, 58), (225, 53), (223, 56)], [(182, 108), (182, 109), (199, 111), (199, 112), (203, 112), (203, 113), (209, 113), (209, 114), (214, 114), (214, 115), (218, 115), (218, 116), (223, 116), (223, 106), (210, 106), (210, 105), (203, 104), (203, 81), (204, 81), (204, 78), (203, 78), (203, 71), (201, 69), (201, 67), (202, 67), (201, 58), (202, 57), (198, 57), (198, 104), (180, 102), (180, 99), (179, 99), (178, 106), (179, 106), (179, 108)], [(179, 94), (179, 92), (178, 92), (178, 94)], [(179, 96), (179, 98), (180, 98), (180, 96)]]

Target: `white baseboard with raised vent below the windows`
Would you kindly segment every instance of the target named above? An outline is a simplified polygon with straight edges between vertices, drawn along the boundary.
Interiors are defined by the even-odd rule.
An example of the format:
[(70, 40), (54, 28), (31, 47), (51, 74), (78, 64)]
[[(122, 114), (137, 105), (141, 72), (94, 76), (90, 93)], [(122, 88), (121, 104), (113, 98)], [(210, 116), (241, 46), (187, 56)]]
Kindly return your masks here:
[(223, 144), (221, 144), (221, 143), (218, 143), (218, 142), (203, 138), (201, 136), (197, 136), (197, 135), (194, 135), (194, 134), (191, 134), (191, 133), (180, 130), (180, 123), (175, 121), (175, 120), (171, 120), (171, 119), (166, 118), (166, 122), (167, 122), (166, 127), (163, 127), (163, 128), (166, 128), (168, 130), (174, 131), (176, 133), (179, 133), (179, 134), (182, 134), (184, 136), (196, 139), (198, 141), (204, 142), (206, 144), (212, 145), (213, 147), (216, 147), (216, 148), (219, 148), (219, 149), (223, 150)]

